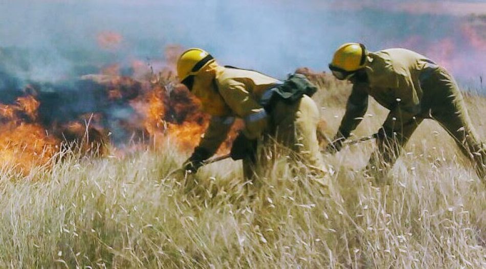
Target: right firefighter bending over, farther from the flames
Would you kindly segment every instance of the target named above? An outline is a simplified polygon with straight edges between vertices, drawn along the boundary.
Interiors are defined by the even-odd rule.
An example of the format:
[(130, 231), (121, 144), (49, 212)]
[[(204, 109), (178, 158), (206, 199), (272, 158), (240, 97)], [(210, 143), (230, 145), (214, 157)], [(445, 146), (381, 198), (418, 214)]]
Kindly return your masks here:
[[(338, 48), (329, 68), (337, 79), (349, 80), (353, 87), (328, 151), (341, 149), (360, 123), (371, 95), (390, 112), (377, 133), (378, 151), (371, 156), (368, 168), (387, 172), (422, 120), (431, 118), (475, 162), (476, 172), (484, 181), (485, 146), (471, 124), (456, 82), (444, 67), (404, 48), (371, 53), (363, 44), (346, 43)], [(382, 161), (377, 161), (380, 156)]]

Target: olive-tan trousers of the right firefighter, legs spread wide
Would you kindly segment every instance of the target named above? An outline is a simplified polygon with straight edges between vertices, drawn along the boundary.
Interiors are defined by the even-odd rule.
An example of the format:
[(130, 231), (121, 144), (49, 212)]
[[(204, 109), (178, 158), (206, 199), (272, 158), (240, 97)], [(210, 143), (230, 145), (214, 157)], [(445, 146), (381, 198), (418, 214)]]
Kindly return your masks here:
[[(377, 140), (378, 151), (370, 158), (368, 168), (384, 174), (396, 161), (403, 146), (407, 143), (424, 118), (436, 120), (453, 138), (461, 152), (475, 164), (476, 173), (486, 184), (486, 146), (471, 124), (463, 96), (449, 72), (439, 67), (421, 86), (428, 92), (430, 98), (424, 101), (428, 106), (428, 115), (419, 117), (409, 123), (402, 123), (402, 131), (395, 137), (385, 137)], [(428, 99), (428, 100), (427, 100)]]

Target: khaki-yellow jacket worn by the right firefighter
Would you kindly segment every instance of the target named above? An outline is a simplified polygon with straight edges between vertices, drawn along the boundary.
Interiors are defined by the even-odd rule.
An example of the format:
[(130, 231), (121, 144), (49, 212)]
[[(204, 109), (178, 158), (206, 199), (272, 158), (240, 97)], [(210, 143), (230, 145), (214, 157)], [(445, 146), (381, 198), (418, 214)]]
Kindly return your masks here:
[(348, 137), (356, 129), (368, 106), (368, 95), (390, 110), (383, 128), (400, 132), (414, 117), (427, 117), (435, 89), (424, 89), (421, 81), (438, 66), (418, 53), (405, 48), (390, 48), (369, 53), (364, 70), (366, 82), (353, 85), (339, 132)]

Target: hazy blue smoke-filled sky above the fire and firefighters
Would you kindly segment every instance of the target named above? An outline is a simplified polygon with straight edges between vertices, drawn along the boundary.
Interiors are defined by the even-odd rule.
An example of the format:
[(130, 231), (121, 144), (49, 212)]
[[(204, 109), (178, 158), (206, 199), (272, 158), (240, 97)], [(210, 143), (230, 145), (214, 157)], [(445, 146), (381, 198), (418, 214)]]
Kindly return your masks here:
[(461, 81), (486, 71), (484, 1), (0, 0), (0, 65), (59, 80), (201, 47), (222, 64), (283, 78), (326, 71), (336, 48), (406, 47)]

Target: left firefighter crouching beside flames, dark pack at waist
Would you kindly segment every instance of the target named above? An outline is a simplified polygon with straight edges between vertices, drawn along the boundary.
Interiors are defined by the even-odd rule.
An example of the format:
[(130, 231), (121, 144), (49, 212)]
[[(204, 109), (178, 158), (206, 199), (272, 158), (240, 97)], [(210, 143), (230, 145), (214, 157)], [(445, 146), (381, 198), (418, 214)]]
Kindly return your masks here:
[(269, 140), (298, 152), (295, 156), (305, 164), (326, 174), (317, 141), (319, 110), (310, 97), (317, 88), (305, 77), (294, 74), (281, 82), (253, 70), (221, 66), (200, 48), (180, 56), (177, 72), (181, 83), (201, 100), (203, 111), (211, 115), (201, 142), (184, 163), (186, 171), (195, 173), (216, 152), (239, 117), (245, 128), (233, 142), (231, 157), (243, 160), (246, 178), (255, 176), (261, 164), (257, 152), (262, 141)]

